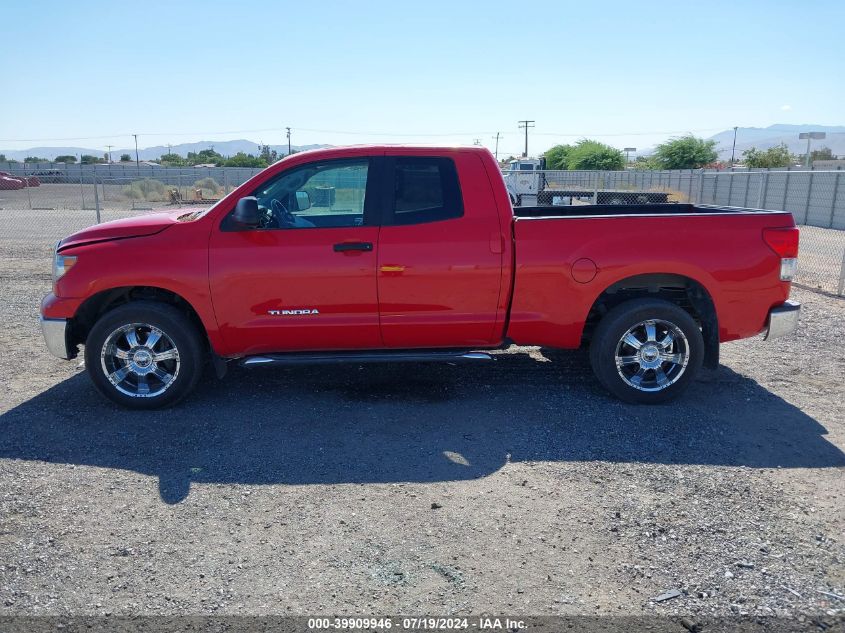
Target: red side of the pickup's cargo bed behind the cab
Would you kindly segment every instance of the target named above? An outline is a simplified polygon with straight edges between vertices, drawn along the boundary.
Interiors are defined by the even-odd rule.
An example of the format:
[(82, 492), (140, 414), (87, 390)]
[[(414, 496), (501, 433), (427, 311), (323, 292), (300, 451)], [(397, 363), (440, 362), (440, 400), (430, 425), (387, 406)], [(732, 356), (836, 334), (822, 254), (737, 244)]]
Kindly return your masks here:
[(595, 298), (638, 275), (671, 272), (699, 283), (713, 298), (722, 342), (756, 335), (772, 306), (789, 298), (780, 257), (763, 239), (764, 229), (794, 226), (786, 212), (659, 204), (514, 214), (508, 335), (517, 343), (578, 347)]

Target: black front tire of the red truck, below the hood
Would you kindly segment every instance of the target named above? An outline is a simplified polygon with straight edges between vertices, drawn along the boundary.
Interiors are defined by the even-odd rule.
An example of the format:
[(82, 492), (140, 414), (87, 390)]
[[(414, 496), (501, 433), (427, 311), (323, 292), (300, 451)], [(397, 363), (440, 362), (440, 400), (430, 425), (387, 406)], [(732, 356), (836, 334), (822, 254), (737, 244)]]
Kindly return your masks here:
[[(136, 325), (151, 327), (134, 327)], [(149, 333), (155, 329), (160, 332), (158, 339), (160, 342), (154, 343), (149, 349), (162, 356), (169, 353), (175, 358), (157, 361), (154, 356), (144, 355), (138, 362), (141, 364), (147, 362), (147, 365), (139, 371), (153, 373), (145, 374), (143, 377), (137, 376), (132, 371), (128, 371), (130, 360), (118, 360), (114, 354), (110, 353), (110, 350), (114, 351), (120, 347), (119, 343), (115, 343), (115, 336), (122, 335), (124, 341), (129, 340), (125, 333), (118, 334), (118, 330), (121, 329), (130, 334), (134, 332), (133, 340), (136, 341), (145, 336), (145, 331), (149, 330), (146, 334), (149, 336)], [(129, 347), (129, 351), (122, 351), (122, 353), (132, 358), (133, 363), (137, 357), (132, 350), (141, 350), (144, 341), (140, 342), (141, 345), (137, 347), (124, 343), (124, 346)], [(104, 350), (107, 343), (108, 349)], [(165, 343), (167, 345), (163, 352), (155, 350), (156, 347), (160, 348)], [(97, 390), (117, 404), (129, 409), (160, 409), (177, 403), (196, 387), (203, 371), (204, 354), (205, 347), (200, 333), (183, 312), (173, 306), (155, 301), (133, 301), (105, 313), (91, 328), (85, 343), (85, 367)], [(110, 365), (110, 363), (117, 363), (117, 365)], [(121, 366), (121, 363), (125, 365)], [(141, 365), (131, 366), (140, 367)], [(109, 378), (109, 370), (115, 367), (118, 371), (111, 373), (113, 377), (121, 375), (120, 370), (127, 369), (122, 374), (125, 378), (119, 384), (115, 384)], [(170, 377), (170, 380), (159, 379), (158, 374), (154, 373), (159, 370), (164, 376)], [(135, 385), (132, 385), (133, 379)], [(146, 393), (137, 384), (139, 382), (144, 383)], [(152, 386), (148, 383), (152, 383)], [(136, 392), (135, 395), (125, 393), (125, 391), (131, 393), (133, 390)], [(158, 390), (160, 393), (153, 393)]]

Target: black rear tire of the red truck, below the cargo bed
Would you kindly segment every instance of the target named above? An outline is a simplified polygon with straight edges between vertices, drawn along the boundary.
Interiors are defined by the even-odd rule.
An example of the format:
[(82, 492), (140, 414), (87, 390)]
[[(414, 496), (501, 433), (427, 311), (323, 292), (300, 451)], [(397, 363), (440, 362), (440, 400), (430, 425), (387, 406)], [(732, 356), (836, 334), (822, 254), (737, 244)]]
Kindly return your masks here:
[[(654, 328), (651, 336), (645, 326), (649, 322)], [(629, 332), (641, 348), (626, 342), (631, 339), (623, 341)], [(671, 342), (666, 343), (670, 332)], [(672, 360), (664, 362), (664, 357)], [(632, 360), (635, 358), (638, 360)], [(695, 379), (703, 360), (704, 339), (698, 324), (685, 310), (661, 299), (619, 304), (599, 322), (590, 344), (590, 364), (599, 382), (620, 400), (634, 404), (676, 398)]]

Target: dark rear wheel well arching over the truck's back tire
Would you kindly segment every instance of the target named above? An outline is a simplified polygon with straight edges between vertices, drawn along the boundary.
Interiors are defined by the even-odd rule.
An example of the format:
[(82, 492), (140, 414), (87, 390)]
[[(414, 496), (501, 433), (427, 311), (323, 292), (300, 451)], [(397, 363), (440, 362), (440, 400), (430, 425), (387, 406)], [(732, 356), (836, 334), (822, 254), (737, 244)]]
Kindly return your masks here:
[(610, 310), (630, 299), (663, 299), (682, 308), (695, 319), (704, 336), (704, 365), (719, 365), (719, 322), (716, 306), (699, 282), (668, 273), (635, 275), (617, 281), (596, 298), (584, 324), (582, 345), (588, 344), (599, 321)]

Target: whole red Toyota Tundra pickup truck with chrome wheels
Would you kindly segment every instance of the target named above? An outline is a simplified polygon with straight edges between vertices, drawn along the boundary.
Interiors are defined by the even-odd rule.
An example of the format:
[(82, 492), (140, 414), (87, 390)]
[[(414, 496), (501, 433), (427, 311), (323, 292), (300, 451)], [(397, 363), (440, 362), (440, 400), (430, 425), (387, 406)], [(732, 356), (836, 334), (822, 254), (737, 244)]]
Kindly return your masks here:
[[(513, 208), (483, 148), (295, 154), (208, 210), (61, 240), (47, 347), (94, 385), (170, 405), (208, 360), (484, 361), (589, 346), (608, 391), (680, 393), (719, 343), (795, 329), (789, 213), (690, 204)], [(500, 361), (506, 362), (506, 361)]]

